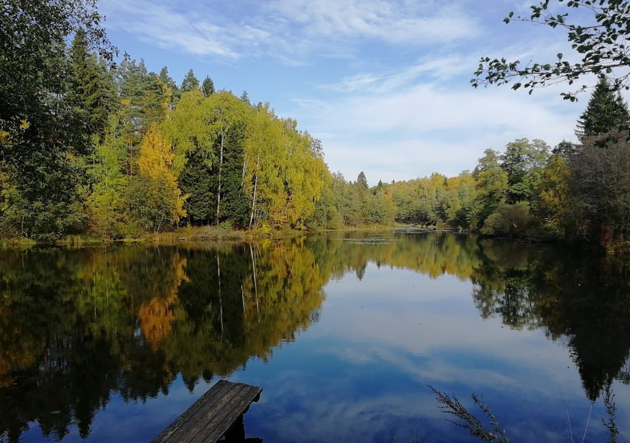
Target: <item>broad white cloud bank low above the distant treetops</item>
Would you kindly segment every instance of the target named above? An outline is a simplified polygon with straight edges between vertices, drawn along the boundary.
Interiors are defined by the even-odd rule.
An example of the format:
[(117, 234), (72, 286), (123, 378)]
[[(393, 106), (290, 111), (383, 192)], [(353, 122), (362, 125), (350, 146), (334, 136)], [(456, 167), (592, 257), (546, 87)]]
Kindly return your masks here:
[[(415, 74), (418, 71), (422, 69)], [(503, 149), (519, 137), (543, 139), (552, 146), (573, 139), (582, 108), (561, 100), (559, 88), (529, 96), (505, 87), (413, 83), (411, 74), (404, 80), (368, 75), (357, 79), (336, 86), (343, 90), (354, 84), (352, 94), (328, 101), (299, 100), (306, 109), (297, 113), (322, 139), (331, 170), (352, 179), (363, 170), (372, 184), (433, 171), (456, 175), (472, 170), (484, 149)], [(326, 137), (319, 130), (336, 136)]]

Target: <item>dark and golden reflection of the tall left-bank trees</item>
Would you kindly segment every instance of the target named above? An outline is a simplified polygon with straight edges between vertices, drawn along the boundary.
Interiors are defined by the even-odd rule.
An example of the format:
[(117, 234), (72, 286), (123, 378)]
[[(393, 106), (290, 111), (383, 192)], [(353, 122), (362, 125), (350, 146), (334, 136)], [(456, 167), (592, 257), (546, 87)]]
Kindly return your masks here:
[[(315, 321), (323, 301), (302, 245), (48, 249), (0, 256), (0, 435), (37, 420), (81, 437), (112, 393), (192, 390)], [(166, 423), (168, 424), (168, 423)]]

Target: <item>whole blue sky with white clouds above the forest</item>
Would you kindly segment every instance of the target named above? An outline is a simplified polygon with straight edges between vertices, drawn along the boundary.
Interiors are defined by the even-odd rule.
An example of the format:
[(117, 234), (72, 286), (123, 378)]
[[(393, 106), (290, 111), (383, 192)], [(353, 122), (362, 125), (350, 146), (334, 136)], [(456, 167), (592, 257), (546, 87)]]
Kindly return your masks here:
[[(530, 0), (101, 0), (112, 42), (179, 83), (193, 68), (217, 88), (268, 101), (323, 142), (326, 162), (370, 184), (472, 170), (518, 137), (574, 140), (588, 100), (568, 86), (532, 96), (473, 89), (482, 55), (569, 56), (566, 34), (505, 25)], [(565, 56), (565, 59), (568, 57)]]

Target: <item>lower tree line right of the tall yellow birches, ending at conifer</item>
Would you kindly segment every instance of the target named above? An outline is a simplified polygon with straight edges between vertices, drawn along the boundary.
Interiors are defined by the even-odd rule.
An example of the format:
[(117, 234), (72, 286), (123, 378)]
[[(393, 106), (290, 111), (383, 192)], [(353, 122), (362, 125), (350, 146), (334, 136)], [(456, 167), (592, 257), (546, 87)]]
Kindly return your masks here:
[(367, 188), (363, 174), (333, 174), (329, 227), (361, 224), (450, 226), (492, 236), (560, 238), (628, 250), (630, 143), (617, 127), (627, 104), (602, 79), (576, 125), (578, 143), (551, 148), (517, 139), (486, 149), (473, 171), (440, 173)]

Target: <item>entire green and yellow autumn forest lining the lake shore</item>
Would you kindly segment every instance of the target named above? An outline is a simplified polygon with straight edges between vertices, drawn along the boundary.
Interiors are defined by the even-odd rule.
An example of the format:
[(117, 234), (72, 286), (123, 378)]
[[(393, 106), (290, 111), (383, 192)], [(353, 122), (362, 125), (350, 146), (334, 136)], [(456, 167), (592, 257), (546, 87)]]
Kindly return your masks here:
[(168, 67), (149, 72), (126, 54), (116, 63), (96, 10), (67, 3), (9, 2), (2, 17), (1, 236), (416, 224), (630, 250), (630, 144), (619, 130), (630, 117), (603, 74), (577, 144), (517, 139), (458, 176), (369, 187), (364, 173), (329, 171), (318, 139), (245, 91), (192, 70), (178, 84)]

